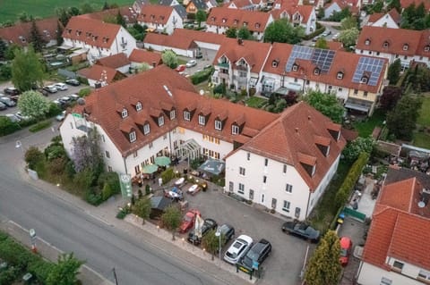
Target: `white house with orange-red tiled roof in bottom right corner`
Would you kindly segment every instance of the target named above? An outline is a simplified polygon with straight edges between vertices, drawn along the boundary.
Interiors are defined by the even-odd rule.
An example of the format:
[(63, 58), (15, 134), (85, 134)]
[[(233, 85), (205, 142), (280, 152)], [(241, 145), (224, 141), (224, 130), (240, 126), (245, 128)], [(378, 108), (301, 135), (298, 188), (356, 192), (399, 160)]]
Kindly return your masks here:
[(430, 179), (391, 167), (374, 208), (358, 284), (420, 285), (430, 281)]

